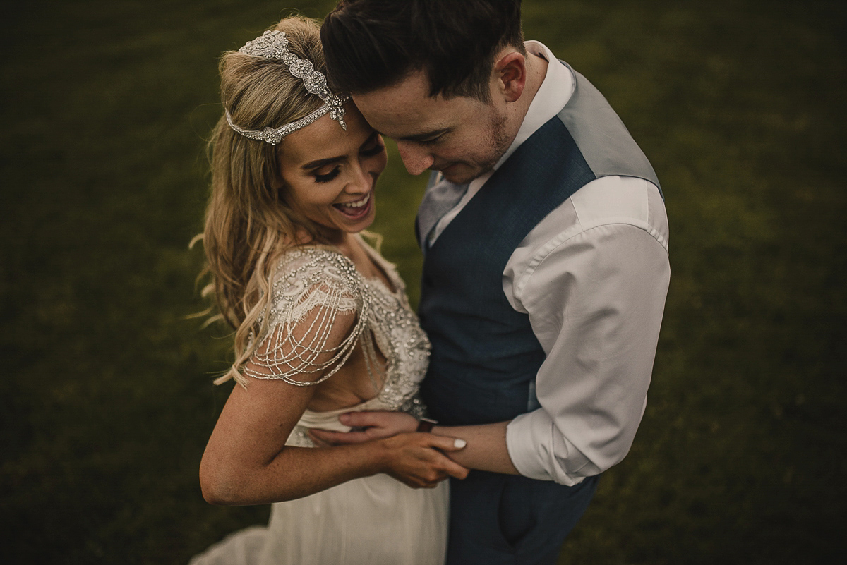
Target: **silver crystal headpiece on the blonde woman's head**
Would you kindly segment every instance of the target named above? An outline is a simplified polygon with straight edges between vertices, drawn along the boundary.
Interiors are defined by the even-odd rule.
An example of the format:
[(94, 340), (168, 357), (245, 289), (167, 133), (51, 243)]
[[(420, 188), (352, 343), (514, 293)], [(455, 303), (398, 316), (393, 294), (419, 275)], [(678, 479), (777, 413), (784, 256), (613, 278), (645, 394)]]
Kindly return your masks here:
[(324, 106), (319, 107), (314, 112), (307, 114), (307, 116), (298, 119), (296, 122), (286, 123), (280, 128), (265, 128), (262, 130), (241, 129), (232, 122), (232, 116), (230, 116), (229, 110), (224, 111), (226, 123), (229, 123), (230, 128), (246, 138), (267, 141), (271, 145), (280, 143), (282, 138), (291, 134), (292, 131), (313, 123), (327, 112), (329, 112), (331, 118), (338, 121), (341, 129), (346, 131), (347, 124), (344, 122), (344, 102), (349, 99), (349, 96), (338, 96), (330, 92), (329, 87), (326, 85), (324, 74), (316, 71), (312, 62), (308, 59), (298, 58), (286, 48), (287, 46), (288, 38), (285, 37), (285, 32), (268, 30), (256, 39), (247, 41), (246, 45), (241, 47), (238, 52), (252, 57), (282, 59), (283, 63), (288, 65), (291, 74), (303, 80), (306, 90), (317, 95), (324, 101)]

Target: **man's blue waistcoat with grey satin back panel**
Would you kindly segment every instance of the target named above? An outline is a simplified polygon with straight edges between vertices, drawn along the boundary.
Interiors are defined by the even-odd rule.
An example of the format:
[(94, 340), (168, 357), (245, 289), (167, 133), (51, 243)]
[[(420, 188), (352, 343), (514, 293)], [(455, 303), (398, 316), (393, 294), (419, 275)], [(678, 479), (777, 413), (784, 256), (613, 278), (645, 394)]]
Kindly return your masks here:
[(567, 105), (502, 163), (425, 254), (419, 315), (432, 356), (421, 392), (444, 425), (512, 420), (539, 406), (534, 380), (545, 353), (529, 315), (503, 293), (518, 244), (596, 178), (659, 184), (606, 99), (574, 75)]

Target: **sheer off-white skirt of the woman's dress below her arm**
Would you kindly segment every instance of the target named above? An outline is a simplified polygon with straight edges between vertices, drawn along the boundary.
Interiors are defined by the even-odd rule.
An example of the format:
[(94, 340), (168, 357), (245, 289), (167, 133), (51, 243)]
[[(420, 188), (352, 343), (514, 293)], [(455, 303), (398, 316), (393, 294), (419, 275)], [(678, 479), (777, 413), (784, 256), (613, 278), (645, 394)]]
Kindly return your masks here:
[(449, 485), (412, 489), (388, 475), (277, 502), (268, 527), (230, 535), (190, 565), (442, 565)]

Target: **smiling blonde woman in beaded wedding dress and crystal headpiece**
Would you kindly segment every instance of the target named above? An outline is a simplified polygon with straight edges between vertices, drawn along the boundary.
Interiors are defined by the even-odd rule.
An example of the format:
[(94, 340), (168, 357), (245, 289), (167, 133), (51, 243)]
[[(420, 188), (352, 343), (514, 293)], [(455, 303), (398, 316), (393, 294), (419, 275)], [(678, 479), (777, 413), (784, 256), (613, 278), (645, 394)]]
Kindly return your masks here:
[(438, 565), (444, 479), (467, 474), (442, 452), (465, 442), (415, 432), (315, 449), (307, 433), (350, 430), (338, 416), (351, 410), (424, 416), (429, 341), (394, 267), (358, 235), (385, 145), (329, 91), (311, 20), (283, 19), (220, 71), (202, 239), (208, 291), (235, 328), (235, 363), (216, 383), (235, 387), (200, 481), (213, 504), (273, 508), (267, 528), (191, 563)]

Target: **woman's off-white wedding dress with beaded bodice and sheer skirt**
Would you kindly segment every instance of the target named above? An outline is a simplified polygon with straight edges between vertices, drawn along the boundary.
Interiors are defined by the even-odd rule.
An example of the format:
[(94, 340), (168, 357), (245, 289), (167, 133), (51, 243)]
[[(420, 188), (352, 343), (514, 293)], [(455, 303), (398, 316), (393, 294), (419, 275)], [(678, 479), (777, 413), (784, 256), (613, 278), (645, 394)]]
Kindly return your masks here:
[[(272, 304), (265, 313), (271, 331), (265, 335), (293, 334), (273, 330), (293, 327), (316, 313), (316, 327), (327, 327), (335, 315), (355, 310), (356, 328), (335, 355), (336, 365), (343, 364), (359, 342), (366, 350), (368, 343), (372, 348), (375, 343), (387, 359), (387, 368), (380, 370), (380, 374), (385, 371), (385, 380), (376, 397), (331, 412), (307, 410), (286, 445), (314, 447), (308, 428), (348, 431), (338, 416), (352, 410), (423, 415), (418, 383), (427, 369), (429, 340), (409, 307), (405, 285), (394, 266), (367, 244), (363, 247), (385, 272), (393, 290), (379, 279), (365, 279), (344, 255), (325, 248), (290, 250), (274, 271)], [(274, 357), (274, 351), (280, 350), (276, 346), (282, 344), (271, 345), (264, 348), (266, 354), (254, 359), (265, 371), (253, 376), (271, 374), (289, 381), (296, 380), (297, 370), (304, 370), (314, 359), (320, 340), (318, 336), (313, 343), (296, 344), (299, 365)], [(324, 375), (332, 378), (331, 372)], [(435, 489), (412, 489), (386, 474), (376, 474), (297, 500), (276, 502), (267, 527), (236, 532), (194, 557), (190, 565), (442, 565), (448, 488), (448, 481), (442, 481)]]

